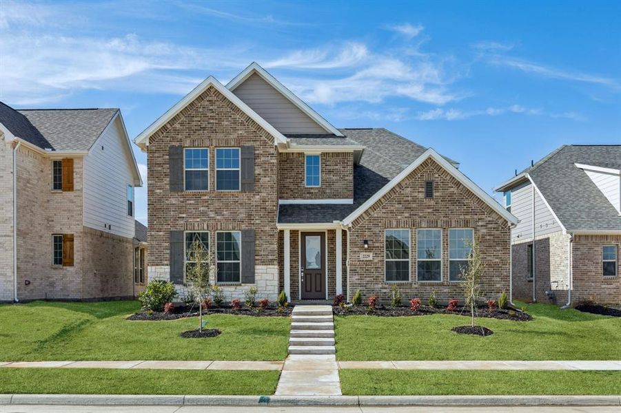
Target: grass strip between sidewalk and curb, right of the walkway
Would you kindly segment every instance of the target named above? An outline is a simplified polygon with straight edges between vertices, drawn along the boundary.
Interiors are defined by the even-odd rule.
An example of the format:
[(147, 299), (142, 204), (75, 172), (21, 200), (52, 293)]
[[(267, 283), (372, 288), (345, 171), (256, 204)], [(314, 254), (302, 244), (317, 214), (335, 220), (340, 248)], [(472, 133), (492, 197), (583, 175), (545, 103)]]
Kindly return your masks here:
[(611, 395), (621, 372), (567, 370), (340, 370), (346, 395)]

